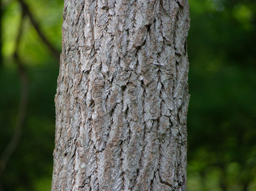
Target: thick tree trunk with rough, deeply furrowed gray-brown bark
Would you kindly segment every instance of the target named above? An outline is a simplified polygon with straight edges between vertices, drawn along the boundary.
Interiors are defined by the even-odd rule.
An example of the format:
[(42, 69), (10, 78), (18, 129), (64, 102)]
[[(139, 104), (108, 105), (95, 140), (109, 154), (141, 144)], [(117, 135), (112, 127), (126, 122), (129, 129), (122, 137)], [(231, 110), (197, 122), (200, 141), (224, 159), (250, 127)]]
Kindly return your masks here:
[(65, 0), (52, 191), (186, 191), (187, 0)]

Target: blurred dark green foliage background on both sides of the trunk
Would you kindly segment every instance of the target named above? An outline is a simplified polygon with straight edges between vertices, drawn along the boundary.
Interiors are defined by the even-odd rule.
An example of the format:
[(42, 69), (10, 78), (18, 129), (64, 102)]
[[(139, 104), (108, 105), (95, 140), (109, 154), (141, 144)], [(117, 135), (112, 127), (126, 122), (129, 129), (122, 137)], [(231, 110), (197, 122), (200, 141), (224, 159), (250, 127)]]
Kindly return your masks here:
[[(63, 0), (26, 0), (61, 51)], [(188, 191), (256, 191), (256, 1), (189, 0), (191, 25)], [(17, 123), (20, 78), (13, 57), (21, 6), (1, 2), (0, 153)], [(23, 134), (1, 184), (50, 191), (58, 61), (25, 17), (18, 49), (29, 77)]]

